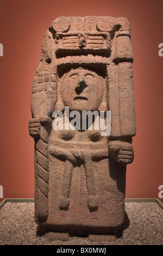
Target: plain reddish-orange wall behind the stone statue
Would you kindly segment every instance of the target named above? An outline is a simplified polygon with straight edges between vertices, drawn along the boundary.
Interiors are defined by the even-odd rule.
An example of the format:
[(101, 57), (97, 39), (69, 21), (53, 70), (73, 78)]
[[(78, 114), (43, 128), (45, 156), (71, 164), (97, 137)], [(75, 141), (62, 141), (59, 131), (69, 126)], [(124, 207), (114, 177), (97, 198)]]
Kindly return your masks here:
[[(158, 198), (162, 172), (162, 0), (0, 0), (1, 171), (4, 198), (34, 198), (30, 93), (48, 26), (59, 16), (127, 17), (134, 53), (137, 134), (127, 198)], [(163, 194), (163, 193), (162, 193)], [(162, 199), (161, 199), (162, 200)], [(163, 200), (162, 200), (163, 201)]]

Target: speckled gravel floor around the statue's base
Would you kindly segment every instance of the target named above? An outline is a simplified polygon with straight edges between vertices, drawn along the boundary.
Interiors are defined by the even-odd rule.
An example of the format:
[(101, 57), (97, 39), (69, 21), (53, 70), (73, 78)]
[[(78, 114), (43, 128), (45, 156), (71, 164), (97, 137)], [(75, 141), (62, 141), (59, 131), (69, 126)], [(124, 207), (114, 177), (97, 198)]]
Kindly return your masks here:
[(0, 210), (0, 245), (163, 245), (163, 210), (158, 204), (126, 203), (125, 219), (115, 242), (50, 242), (35, 235), (34, 203), (6, 203)]

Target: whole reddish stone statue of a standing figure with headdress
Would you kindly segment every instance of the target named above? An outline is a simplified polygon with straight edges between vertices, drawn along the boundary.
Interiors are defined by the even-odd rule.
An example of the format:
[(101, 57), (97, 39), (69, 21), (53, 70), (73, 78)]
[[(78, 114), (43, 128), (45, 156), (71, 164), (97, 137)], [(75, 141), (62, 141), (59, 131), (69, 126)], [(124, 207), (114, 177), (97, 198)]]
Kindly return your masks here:
[[(136, 133), (132, 62), (125, 18), (59, 17), (46, 32), (29, 121), (37, 234), (109, 240), (123, 224), (126, 165), (133, 161)], [(64, 126), (74, 110), (110, 110), (111, 134), (102, 136), (95, 124), (92, 130), (89, 124), (54, 130), (53, 112), (65, 115), (65, 106), (70, 118)]]

